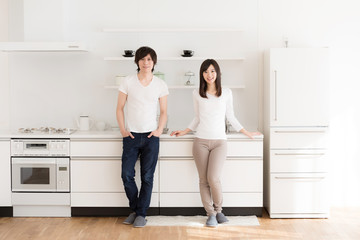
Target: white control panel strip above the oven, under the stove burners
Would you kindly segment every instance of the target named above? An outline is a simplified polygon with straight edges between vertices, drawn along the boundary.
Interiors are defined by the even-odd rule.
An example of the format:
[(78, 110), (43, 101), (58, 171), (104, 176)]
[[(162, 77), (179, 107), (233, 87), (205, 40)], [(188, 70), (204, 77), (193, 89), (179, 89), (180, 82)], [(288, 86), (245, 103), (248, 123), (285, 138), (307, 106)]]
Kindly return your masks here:
[(12, 139), (11, 156), (69, 156), (69, 139)]

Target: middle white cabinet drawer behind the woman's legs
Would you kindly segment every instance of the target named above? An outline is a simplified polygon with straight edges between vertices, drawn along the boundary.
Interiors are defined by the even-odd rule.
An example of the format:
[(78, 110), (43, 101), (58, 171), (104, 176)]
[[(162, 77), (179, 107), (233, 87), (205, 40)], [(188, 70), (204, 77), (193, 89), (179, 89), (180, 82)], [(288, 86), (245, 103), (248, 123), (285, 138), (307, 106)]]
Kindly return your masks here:
[[(161, 192), (199, 192), (193, 159), (161, 159)], [(262, 192), (261, 160), (227, 160), (221, 174), (223, 192)]]

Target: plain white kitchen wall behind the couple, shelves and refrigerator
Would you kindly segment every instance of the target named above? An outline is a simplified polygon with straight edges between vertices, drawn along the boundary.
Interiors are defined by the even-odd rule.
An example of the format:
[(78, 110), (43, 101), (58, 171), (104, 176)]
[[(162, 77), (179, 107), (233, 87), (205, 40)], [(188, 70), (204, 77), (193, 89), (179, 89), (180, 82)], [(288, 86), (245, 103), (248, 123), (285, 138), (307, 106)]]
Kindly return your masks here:
[[(10, 1), (10, 0), (9, 0)], [(13, 3), (15, 0), (11, 0)], [(20, 0), (16, 0), (20, 1)], [(27, 0), (31, 1), (31, 0)], [(0, 1), (6, 6), (6, 1)], [(125, 4), (126, 3), (126, 4)], [(262, 53), (271, 47), (282, 47), (284, 37), (290, 47), (323, 47), (331, 49), (331, 122), (330, 164), (332, 166), (332, 205), (360, 205), (359, 120), (360, 79), (358, 56), (360, 48), (360, 15), (357, 0), (258, 0), (258, 1), (85, 1), (64, 0), (64, 40), (89, 42), (87, 54), (12, 54), (9, 79), (11, 80), (11, 125), (71, 126), (73, 118), (88, 112), (96, 119), (115, 124), (116, 92), (102, 89), (101, 85), (113, 80), (118, 73), (130, 73), (131, 63), (105, 62), (104, 56), (120, 55), (125, 48), (137, 48), (147, 43), (142, 35), (101, 32), (104, 27), (239, 27), (244, 36), (236, 37), (239, 52), (247, 60), (239, 65), (240, 80), (246, 89), (237, 90), (236, 111), (245, 126), (262, 120)], [(84, 7), (86, 6), (86, 7)], [(3, 8), (1, 8), (3, 10)], [(150, 10), (151, 11), (146, 11)], [(2, 19), (3, 14), (0, 14)], [(135, 18), (134, 16), (139, 16)], [(1, 19), (1, 20), (2, 20)], [(1, 21), (1, 23), (4, 23)], [(16, 24), (15, 24), (16, 25)], [(1, 27), (0, 34), (7, 31)], [(18, 27), (19, 29), (19, 27)], [(13, 29), (15, 31), (16, 29)], [(16, 32), (16, 31), (15, 31)], [(18, 32), (10, 36), (21, 36)], [(256, 37), (258, 35), (258, 38)], [(2, 35), (4, 36), (4, 35)], [(255, 36), (255, 40), (254, 40)], [(204, 36), (197, 38), (203, 39)], [(206, 37), (206, 36), (205, 36)], [(169, 36), (160, 36), (170, 48), (159, 46), (159, 39), (150, 42), (161, 55), (177, 54), (178, 49), (190, 46), (200, 48), (194, 38), (169, 42)], [(197, 38), (195, 40), (197, 40)], [(220, 36), (228, 41), (229, 37)], [(136, 39), (136, 41), (132, 41)], [(147, 39), (147, 38), (146, 38)], [(212, 40), (209, 36), (210, 43)], [(207, 41), (201, 41), (207, 44)], [(183, 45), (182, 45), (183, 44)], [(193, 45), (194, 44), (194, 45)], [(254, 46), (255, 45), (255, 46)], [(217, 46), (216, 46), (217, 47)], [(250, 49), (246, 52), (244, 49)], [(197, 49), (196, 49), (197, 50)], [(213, 50), (212, 45), (206, 51)], [(255, 53), (253, 52), (255, 51)], [(1, 53), (0, 53), (1, 54)], [(166, 72), (169, 66), (159, 63)], [(1, 64), (4, 69), (6, 65)], [(20, 67), (19, 67), (20, 66)], [(198, 66), (175, 66), (183, 72)], [(254, 70), (256, 69), (257, 70)], [(20, 70), (19, 70), (20, 69)], [(135, 69), (135, 68), (134, 68)], [(165, 69), (165, 70), (164, 70)], [(167, 81), (178, 81), (166, 72)], [(1, 71), (0, 74), (3, 74)], [(180, 74), (181, 75), (181, 74)], [(259, 77), (258, 77), (259, 75)], [(257, 79), (259, 78), (259, 85)], [(6, 96), (8, 81), (1, 75), (1, 97)], [(5, 85), (4, 85), (5, 84)], [(5, 88), (3, 89), (3, 86)], [(23, 90), (21, 90), (23, 89)], [(64, 97), (64, 92), (65, 97)], [(170, 123), (183, 127), (191, 119), (190, 93), (171, 91), (169, 97)], [(61, 99), (61, 100), (59, 100)], [(181, 105), (176, 105), (181, 101)], [(6, 126), (8, 108), (1, 99), (2, 126)], [(4, 115), (5, 112), (5, 115)], [(5, 116), (5, 118), (3, 117)], [(5, 119), (5, 121), (3, 120)], [(179, 122), (182, 121), (182, 122)], [(182, 125), (182, 126), (180, 126)]]

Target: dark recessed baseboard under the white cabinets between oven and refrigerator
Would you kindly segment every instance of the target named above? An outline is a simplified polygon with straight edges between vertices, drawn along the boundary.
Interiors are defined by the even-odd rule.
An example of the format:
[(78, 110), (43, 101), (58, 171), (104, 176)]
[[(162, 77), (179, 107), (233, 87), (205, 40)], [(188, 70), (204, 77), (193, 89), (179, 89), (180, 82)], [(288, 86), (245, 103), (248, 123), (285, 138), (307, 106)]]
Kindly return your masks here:
[[(118, 217), (128, 216), (131, 213), (128, 207), (72, 207), (71, 216), (73, 217)], [(223, 213), (227, 216), (248, 216), (256, 215), (262, 217), (262, 207), (224, 207)], [(148, 216), (194, 216), (206, 215), (203, 207), (151, 207), (147, 211)]]

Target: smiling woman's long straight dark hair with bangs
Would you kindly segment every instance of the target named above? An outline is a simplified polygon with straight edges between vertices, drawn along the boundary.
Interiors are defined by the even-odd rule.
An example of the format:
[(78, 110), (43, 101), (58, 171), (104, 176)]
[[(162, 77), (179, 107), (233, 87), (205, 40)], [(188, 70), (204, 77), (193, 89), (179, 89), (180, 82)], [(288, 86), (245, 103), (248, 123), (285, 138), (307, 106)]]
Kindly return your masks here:
[(199, 94), (203, 98), (207, 98), (206, 90), (207, 90), (207, 83), (204, 79), (203, 72), (205, 72), (210, 65), (213, 65), (216, 71), (216, 80), (215, 80), (215, 87), (216, 87), (216, 96), (221, 96), (221, 71), (219, 64), (214, 59), (206, 59), (200, 66), (200, 87), (199, 87)]

